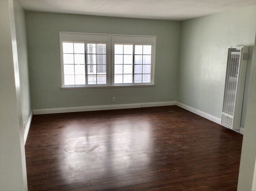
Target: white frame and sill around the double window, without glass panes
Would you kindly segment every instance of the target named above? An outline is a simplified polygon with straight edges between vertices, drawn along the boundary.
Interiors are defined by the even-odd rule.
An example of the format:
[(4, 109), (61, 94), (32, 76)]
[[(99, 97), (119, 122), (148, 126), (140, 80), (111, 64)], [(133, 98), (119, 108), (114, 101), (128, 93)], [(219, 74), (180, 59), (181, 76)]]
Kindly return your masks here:
[[(64, 83), (64, 64), (63, 64), (63, 42), (83, 42), (106, 44), (106, 84), (89, 85), (65, 85)], [(61, 89), (81, 89), (81, 88), (106, 88), (106, 87), (147, 87), (154, 86), (155, 76), (155, 55), (156, 55), (156, 36), (148, 35), (116, 35), (102, 33), (77, 33), (77, 32), (59, 32), (60, 60), (61, 60)], [(132, 45), (152, 45), (151, 53), (151, 76), (150, 83), (135, 84), (114, 84), (115, 67), (115, 44)], [(134, 53), (133, 53), (134, 56)], [(86, 54), (85, 54), (86, 60)], [(86, 63), (85, 63), (85, 67)], [(134, 68), (134, 63), (133, 63)], [(86, 68), (85, 68), (86, 70)], [(134, 71), (133, 71), (134, 76)], [(85, 78), (87, 78), (85, 74)]]

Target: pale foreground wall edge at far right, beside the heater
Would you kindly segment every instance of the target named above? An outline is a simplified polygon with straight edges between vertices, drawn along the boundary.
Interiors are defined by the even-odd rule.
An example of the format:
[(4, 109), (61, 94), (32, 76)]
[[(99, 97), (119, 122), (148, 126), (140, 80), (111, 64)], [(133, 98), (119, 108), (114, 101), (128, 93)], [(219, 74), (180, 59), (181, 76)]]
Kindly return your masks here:
[(245, 117), (245, 132), (239, 169), (238, 191), (256, 191), (256, 40)]

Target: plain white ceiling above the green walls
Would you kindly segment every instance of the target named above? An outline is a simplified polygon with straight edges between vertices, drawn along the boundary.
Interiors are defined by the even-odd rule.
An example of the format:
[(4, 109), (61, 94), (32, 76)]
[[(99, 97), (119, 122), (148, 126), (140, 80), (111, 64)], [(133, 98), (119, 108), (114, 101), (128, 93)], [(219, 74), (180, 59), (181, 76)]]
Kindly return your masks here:
[(19, 0), (28, 11), (186, 20), (256, 5), (256, 0)]

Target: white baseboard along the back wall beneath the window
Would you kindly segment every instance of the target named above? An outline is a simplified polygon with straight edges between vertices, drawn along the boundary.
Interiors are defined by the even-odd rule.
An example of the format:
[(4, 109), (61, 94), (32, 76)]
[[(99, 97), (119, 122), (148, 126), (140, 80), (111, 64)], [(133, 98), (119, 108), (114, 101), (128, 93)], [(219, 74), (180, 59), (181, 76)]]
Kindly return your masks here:
[(140, 107), (157, 107), (157, 106), (174, 106), (176, 101), (172, 102), (151, 102), (151, 103), (139, 103), (139, 104), (119, 104), (119, 105), (106, 105), (106, 106), (85, 106), (85, 107), (65, 107), (65, 108), (53, 108), (53, 109), (33, 109), (33, 115), (50, 114), (50, 113), (69, 113), (79, 111), (98, 111), (109, 109), (130, 109)]

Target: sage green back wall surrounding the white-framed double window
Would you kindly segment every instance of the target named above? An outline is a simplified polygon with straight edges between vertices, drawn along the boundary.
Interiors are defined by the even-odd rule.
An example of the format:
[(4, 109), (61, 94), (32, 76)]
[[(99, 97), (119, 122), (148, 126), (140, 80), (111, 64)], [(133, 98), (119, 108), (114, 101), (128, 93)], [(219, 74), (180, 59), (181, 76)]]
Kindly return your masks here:
[[(180, 22), (26, 12), (26, 31), (32, 109), (176, 101)], [(59, 31), (156, 35), (156, 86), (60, 89)]]

